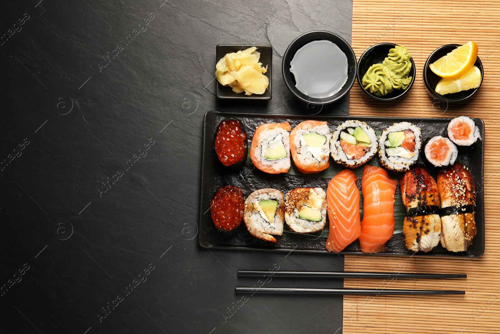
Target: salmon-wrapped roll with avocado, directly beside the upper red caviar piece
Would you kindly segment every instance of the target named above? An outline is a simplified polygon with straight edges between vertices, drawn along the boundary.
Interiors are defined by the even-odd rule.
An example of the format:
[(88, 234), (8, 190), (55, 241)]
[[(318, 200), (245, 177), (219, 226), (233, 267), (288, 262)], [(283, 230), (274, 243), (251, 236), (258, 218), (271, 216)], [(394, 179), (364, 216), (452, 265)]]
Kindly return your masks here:
[(290, 168), (290, 124), (267, 123), (255, 129), (251, 140), (250, 159), (265, 173), (286, 173)]

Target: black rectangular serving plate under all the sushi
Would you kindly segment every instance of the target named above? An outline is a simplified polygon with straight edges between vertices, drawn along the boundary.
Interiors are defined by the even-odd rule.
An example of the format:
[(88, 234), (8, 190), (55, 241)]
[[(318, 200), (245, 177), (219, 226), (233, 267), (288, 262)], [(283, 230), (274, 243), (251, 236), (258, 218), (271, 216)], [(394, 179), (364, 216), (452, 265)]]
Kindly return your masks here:
[[(213, 142), (215, 133), (221, 120), (227, 117), (239, 119), (245, 126), (248, 136), (248, 149), (251, 144), (253, 131), (263, 123), (281, 123), (288, 121), (293, 129), (299, 122), (311, 119), (310, 117), (298, 115), (265, 115), (265, 114), (235, 114), (209, 111), (203, 119), (203, 152), (201, 170), (201, 190), (199, 205), (198, 241), (206, 248), (231, 248), (231, 249), (256, 249), (277, 251), (302, 251), (327, 253), (324, 248), (326, 238), (317, 235), (297, 234), (283, 232), (277, 236), (277, 243), (262, 241), (250, 235), (244, 223), (237, 228), (235, 233), (227, 235), (219, 232), (210, 217), (210, 200), (218, 188), (225, 185), (234, 185), (243, 189), (246, 198), (250, 193), (261, 188), (276, 188), (284, 194), (298, 187), (320, 187), (326, 189), (329, 178), (310, 176), (277, 174), (271, 175), (261, 172), (251, 164), (245, 164), (241, 169), (228, 170), (222, 166), (215, 155)], [(354, 117), (354, 116), (323, 116), (314, 117), (315, 120), (327, 121), (330, 130), (334, 130), (340, 123), (355, 119), (366, 122), (375, 131), (382, 131), (387, 126), (397, 122), (410, 122), (421, 129), (422, 140), (437, 135), (445, 135), (449, 118), (396, 118), (396, 117)], [(479, 118), (473, 118), (479, 127), (482, 138), (484, 138), (484, 123)], [(423, 150), (423, 146), (422, 146)], [(469, 249), (465, 252), (454, 253), (447, 251), (439, 245), (431, 251), (417, 252), (407, 250), (404, 247), (402, 233), (397, 233), (386, 242), (386, 250), (377, 255), (405, 255), (405, 256), (441, 256), (441, 257), (479, 257), (484, 252), (484, 196), (483, 196), (483, 158), (484, 150), (482, 141), (477, 141), (467, 148), (458, 148), (457, 161), (468, 167), (475, 183), (477, 193), (475, 222), (477, 234)], [(378, 159), (375, 155), (373, 159)], [(291, 162), (293, 165), (293, 162)], [(330, 159), (330, 165), (336, 164)], [(428, 166), (427, 166), (428, 167)], [(435, 177), (437, 168), (428, 168), (429, 173)], [(403, 173), (389, 172), (389, 176), (399, 180)], [(397, 186), (396, 194), (399, 192)], [(286, 223), (285, 223), (286, 224)], [(340, 254), (363, 254), (356, 240), (348, 245)], [(370, 254), (373, 255), (373, 254)]]

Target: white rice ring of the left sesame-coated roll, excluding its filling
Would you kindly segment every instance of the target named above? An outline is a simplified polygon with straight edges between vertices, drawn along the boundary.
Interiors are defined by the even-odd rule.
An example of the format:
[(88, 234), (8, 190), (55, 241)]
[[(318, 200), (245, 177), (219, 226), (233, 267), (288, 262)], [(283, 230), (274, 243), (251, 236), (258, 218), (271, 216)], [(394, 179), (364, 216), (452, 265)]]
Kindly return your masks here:
[[(356, 128), (356, 127), (360, 127), (363, 130), (366, 136), (368, 136), (368, 139), (370, 140), (371, 143), (368, 152), (366, 152), (361, 158), (349, 159), (345, 154), (345, 152), (343, 151), (342, 147), (340, 146), (340, 138), (339, 138), (340, 132), (342, 130), (346, 130), (347, 128)], [(378, 145), (376, 141), (375, 131), (373, 131), (373, 129), (370, 128), (366, 123), (355, 120), (345, 121), (339, 126), (337, 126), (330, 140), (331, 157), (337, 163), (342, 164), (348, 168), (354, 168), (363, 165), (364, 163), (369, 161), (373, 157), (373, 155), (375, 155), (377, 149)]]

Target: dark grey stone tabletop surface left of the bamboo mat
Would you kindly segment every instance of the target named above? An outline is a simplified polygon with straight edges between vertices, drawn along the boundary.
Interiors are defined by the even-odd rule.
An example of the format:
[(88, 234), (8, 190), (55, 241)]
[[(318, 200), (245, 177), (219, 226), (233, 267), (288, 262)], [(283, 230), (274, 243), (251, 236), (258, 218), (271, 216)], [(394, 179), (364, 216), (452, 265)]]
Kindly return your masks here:
[[(286, 270), (341, 270), (341, 257), (209, 251), (195, 237), (204, 112), (301, 113), (279, 70), (272, 73), (269, 102), (216, 101), (215, 45), (270, 43), (279, 69), (280, 54), (300, 33), (329, 30), (350, 41), (349, 1), (248, 4), (0, 5), (0, 37), (7, 34), (0, 43), (0, 161), (11, 159), (0, 171), (0, 286), (12, 284), (0, 295), (0, 332), (340, 328), (341, 296), (253, 295), (230, 317), (227, 308), (242, 300), (235, 286), (258, 281), (237, 279), (237, 269), (277, 263)], [(14, 26), (24, 13), (29, 18)], [(154, 19), (139, 27), (149, 13)], [(346, 112), (345, 100), (322, 111)], [(114, 183), (100, 193), (108, 178)], [(143, 270), (149, 274), (139, 277)], [(127, 294), (139, 278), (147, 280), (135, 281)], [(273, 279), (265, 286), (342, 282)], [(114, 301), (118, 295), (123, 300)], [(112, 303), (117, 306), (99, 322), (102, 307)]]

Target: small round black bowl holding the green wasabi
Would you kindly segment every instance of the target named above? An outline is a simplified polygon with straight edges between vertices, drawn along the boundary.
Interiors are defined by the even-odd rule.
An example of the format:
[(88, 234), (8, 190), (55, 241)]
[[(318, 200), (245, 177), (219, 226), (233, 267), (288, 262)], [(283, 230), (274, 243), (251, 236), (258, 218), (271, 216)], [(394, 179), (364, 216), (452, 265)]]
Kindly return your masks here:
[(359, 61), (357, 62), (357, 84), (361, 91), (376, 101), (388, 102), (400, 99), (404, 96), (404, 94), (408, 93), (411, 86), (415, 82), (415, 63), (413, 62), (413, 58), (410, 58), (411, 62), (411, 70), (409, 71), (409, 76), (411, 76), (411, 82), (406, 89), (393, 90), (384, 96), (376, 96), (367, 90), (364, 89), (362, 85), (362, 80), (366, 71), (368, 71), (369, 67), (373, 64), (381, 64), (383, 60), (387, 57), (389, 50), (397, 46), (397, 44), (393, 43), (379, 43), (375, 44), (372, 47), (366, 49), (366, 51), (359, 57)]

